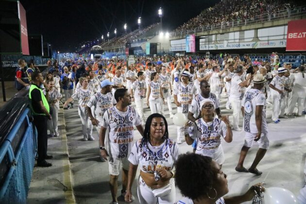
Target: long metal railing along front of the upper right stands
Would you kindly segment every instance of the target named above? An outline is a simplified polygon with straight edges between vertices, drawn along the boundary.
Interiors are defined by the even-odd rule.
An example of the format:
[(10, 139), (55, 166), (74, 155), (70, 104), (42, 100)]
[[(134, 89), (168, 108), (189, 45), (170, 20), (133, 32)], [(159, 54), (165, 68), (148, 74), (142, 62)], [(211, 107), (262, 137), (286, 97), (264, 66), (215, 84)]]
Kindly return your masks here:
[(225, 29), (225, 28), (231, 28), (231, 27), (237, 27), (237, 26), (250, 25), (250, 24), (268, 22), (272, 20), (285, 19), (285, 18), (290, 18), (290, 17), (300, 17), (303, 15), (306, 15), (306, 6), (296, 7), (292, 10), (282, 10), (282, 11), (278, 11), (276, 13), (271, 13), (271, 14), (262, 14), (262, 15), (250, 17), (247, 19), (237, 19), (237, 20), (221, 22), (221, 23), (217, 23), (213, 25), (200, 26), (200, 27), (190, 29), (190, 30), (171, 32), (170, 37), (181, 36), (181, 35), (186, 35), (186, 34), (195, 34), (195, 33), (200, 33), (204, 31), (213, 31), (213, 30), (219, 30), (219, 29)]

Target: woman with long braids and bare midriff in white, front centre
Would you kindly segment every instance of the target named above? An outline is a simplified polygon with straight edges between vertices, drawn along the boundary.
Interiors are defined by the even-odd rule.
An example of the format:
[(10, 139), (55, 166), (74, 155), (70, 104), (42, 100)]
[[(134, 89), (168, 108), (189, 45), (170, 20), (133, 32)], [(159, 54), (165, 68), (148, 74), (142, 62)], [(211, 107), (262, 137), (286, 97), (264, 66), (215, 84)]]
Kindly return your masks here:
[(125, 201), (132, 202), (132, 184), (137, 167), (140, 176), (137, 195), (141, 204), (173, 204), (175, 202), (175, 161), (180, 154), (178, 145), (169, 139), (164, 116), (155, 113), (148, 117), (143, 138), (138, 140), (129, 156), (130, 169)]

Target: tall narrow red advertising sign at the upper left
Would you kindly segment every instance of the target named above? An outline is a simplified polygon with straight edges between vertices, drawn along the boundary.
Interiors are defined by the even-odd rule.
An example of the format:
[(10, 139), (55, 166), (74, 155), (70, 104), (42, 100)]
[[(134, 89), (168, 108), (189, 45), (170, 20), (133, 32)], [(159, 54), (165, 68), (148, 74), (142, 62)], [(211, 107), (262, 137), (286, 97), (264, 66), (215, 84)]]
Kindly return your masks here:
[(19, 1), (18, 1), (18, 17), (20, 20), (21, 52), (22, 54), (30, 55), (26, 12)]

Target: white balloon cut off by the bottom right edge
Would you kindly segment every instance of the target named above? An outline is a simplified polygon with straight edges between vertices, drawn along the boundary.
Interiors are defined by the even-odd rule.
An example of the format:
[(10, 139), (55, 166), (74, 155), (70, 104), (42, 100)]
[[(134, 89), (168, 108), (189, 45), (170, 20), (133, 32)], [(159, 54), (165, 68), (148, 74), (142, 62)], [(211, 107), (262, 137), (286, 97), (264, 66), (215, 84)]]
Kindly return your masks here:
[(269, 187), (264, 193), (264, 204), (298, 204), (298, 200), (285, 188)]

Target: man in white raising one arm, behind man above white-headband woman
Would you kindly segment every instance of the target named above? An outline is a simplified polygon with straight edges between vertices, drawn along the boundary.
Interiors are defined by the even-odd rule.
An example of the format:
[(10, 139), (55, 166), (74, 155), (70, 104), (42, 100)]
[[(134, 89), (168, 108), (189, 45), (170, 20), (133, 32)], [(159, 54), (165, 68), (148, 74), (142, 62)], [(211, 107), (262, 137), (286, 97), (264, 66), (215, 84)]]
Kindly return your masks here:
[(220, 68), (218, 66), (213, 67), (213, 73), (209, 78), (209, 84), (210, 84), (210, 92), (214, 93), (217, 96), (218, 101), (220, 102), (221, 98), (221, 87), (223, 85), (221, 81), (221, 75), (226, 71), (228, 68), (228, 64), (225, 65), (225, 68), (220, 71)]

